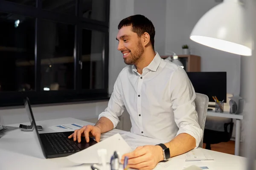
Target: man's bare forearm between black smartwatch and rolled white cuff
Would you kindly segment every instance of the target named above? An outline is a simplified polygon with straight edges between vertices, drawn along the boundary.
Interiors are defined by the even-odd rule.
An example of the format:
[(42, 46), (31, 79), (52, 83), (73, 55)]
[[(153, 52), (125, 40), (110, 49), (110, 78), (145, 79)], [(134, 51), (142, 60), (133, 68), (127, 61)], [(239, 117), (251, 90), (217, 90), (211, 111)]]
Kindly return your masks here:
[(177, 156), (192, 150), (196, 146), (195, 138), (187, 133), (180, 133), (172, 141), (165, 144), (169, 147), (171, 157)]

